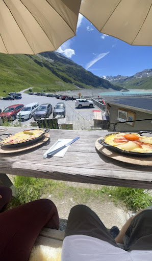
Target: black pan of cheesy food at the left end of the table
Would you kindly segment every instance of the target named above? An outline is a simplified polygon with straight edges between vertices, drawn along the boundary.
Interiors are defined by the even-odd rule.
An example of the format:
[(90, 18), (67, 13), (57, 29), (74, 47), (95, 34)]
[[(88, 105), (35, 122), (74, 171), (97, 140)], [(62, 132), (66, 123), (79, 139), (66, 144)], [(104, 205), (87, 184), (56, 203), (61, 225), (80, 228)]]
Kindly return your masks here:
[[(49, 129), (29, 129), (18, 132), (3, 139), (1, 147), (22, 147), (34, 144), (41, 140), (49, 132)], [(4, 134), (6, 135), (6, 134)]]

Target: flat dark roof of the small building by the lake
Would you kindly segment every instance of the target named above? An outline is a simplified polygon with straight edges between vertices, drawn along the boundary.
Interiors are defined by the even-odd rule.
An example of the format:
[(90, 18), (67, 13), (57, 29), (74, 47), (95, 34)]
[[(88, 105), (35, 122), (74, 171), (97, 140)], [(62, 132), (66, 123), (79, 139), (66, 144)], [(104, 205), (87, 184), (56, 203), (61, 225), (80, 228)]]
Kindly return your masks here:
[(107, 103), (121, 105), (136, 111), (152, 114), (152, 97), (105, 97)]

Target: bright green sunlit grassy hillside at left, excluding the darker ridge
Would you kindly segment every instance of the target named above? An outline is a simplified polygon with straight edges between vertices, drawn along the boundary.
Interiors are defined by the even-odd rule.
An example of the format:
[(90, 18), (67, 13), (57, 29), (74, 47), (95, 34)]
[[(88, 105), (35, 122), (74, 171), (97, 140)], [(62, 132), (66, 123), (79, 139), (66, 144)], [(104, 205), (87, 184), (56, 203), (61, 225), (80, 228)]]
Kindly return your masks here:
[[(38, 62), (41, 59), (34, 55)], [(35, 92), (55, 92), (76, 88), (55, 76), (47, 68), (39, 66), (27, 55), (0, 54), (0, 96), (32, 88)]]

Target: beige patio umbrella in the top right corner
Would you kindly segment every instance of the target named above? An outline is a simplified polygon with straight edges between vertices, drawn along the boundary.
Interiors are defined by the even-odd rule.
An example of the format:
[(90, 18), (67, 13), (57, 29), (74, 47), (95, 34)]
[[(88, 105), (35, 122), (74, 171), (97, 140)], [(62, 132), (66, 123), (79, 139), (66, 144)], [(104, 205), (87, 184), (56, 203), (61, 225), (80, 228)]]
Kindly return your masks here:
[(82, 0), (80, 12), (99, 32), (130, 45), (152, 46), (151, 0)]

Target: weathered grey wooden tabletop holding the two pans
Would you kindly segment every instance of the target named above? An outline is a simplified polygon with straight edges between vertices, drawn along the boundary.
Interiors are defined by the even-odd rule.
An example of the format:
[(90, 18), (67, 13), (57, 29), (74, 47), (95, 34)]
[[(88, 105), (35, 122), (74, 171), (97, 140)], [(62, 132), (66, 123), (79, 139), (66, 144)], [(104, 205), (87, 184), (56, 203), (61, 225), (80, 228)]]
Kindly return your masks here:
[[(1, 130), (3, 128), (1, 126)], [(6, 133), (14, 134), (20, 130), (22, 128), (8, 127)], [(118, 162), (97, 152), (95, 141), (106, 135), (106, 131), (51, 129), (49, 134), (49, 143), (39, 148), (18, 154), (1, 154), (0, 173), (152, 189), (152, 167)], [(44, 152), (59, 138), (74, 139), (78, 136), (80, 139), (70, 145), (63, 158), (43, 159)]]

